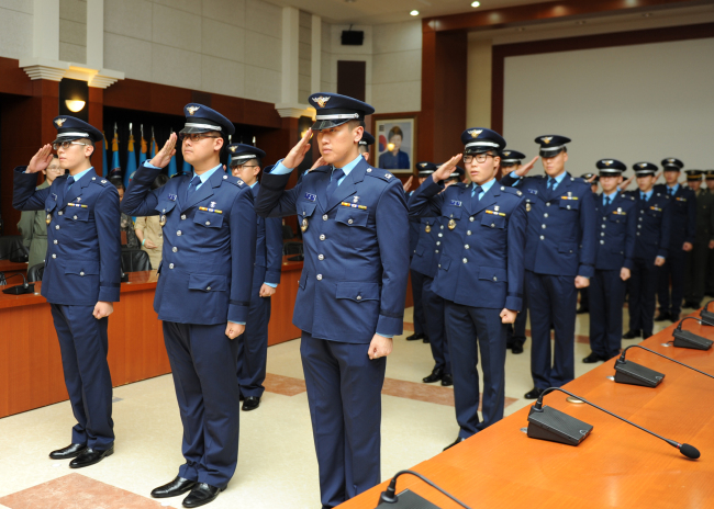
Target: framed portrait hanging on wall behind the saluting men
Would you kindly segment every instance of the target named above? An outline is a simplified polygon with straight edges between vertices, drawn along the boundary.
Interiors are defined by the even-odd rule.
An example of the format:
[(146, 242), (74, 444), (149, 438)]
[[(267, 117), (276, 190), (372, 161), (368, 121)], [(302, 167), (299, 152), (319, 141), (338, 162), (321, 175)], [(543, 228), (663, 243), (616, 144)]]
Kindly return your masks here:
[[(377, 115), (375, 115), (377, 116)], [(387, 116), (387, 115), (384, 115)], [(375, 118), (375, 151), (377, 168), (392, 173), (412, 173), (416, 157), (416, 118)]]

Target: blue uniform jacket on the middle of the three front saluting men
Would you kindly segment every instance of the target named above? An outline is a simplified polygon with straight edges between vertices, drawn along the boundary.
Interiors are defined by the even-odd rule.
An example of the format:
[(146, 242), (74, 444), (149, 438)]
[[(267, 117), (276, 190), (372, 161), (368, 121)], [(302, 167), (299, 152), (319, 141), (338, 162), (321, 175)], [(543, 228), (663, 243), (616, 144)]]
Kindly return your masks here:
[(257, 219), (250, 188), (220, 169), (186, 199), (183, 174), (152, 190), (161, 172), (142, 166), (122, 212), (166, 216), (154, 309), (160, 320), (215, 325), (247, 321)]

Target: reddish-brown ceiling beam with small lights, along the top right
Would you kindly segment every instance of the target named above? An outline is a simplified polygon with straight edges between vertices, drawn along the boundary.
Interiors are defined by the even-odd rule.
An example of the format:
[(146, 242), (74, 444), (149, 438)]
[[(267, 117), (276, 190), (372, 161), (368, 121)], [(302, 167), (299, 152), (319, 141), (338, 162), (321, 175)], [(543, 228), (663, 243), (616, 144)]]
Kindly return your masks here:
[(486, 11), (471, 11), (438, 18), (426, 18), (423, 32), (446, 32), (451, 30), (499, 29), (514, 23), (562, 20), (605, 12), (638, 12), (663, 7), (691, 7), (711, 3), (711, 0), (569, 0), (546, 1), (529, 5), (515, 5)]

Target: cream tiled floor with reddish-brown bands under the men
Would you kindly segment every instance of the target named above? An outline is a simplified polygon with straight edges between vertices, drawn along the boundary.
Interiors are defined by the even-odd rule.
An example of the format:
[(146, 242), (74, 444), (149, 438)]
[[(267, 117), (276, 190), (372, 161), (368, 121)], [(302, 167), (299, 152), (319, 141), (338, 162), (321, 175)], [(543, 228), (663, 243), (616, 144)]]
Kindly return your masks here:
[[(405, 333), (411, 333), (406, 309)], [(627, 309), (625, 313), (625, 324)], [(656, 325), (661, 330), (669, 323)], [(589, 316), (576, 329), (576, 374), (592, 364)], [(624, 341), (628, 344), (635, 341)], [(267, 392), (258, 410), (241, 415), (238, 468), (212, 509), (302, 509), (320, 507), (300, 341), (268, 349)], [(529, 401), (531, 341), (506, 358), (506, 415)], [(438, 454), (458, 429), (451, 388), (421, 382), (433, 367), (428, 344), (394, 339), (382, 397), (382, 478)], [(182, 463), (181, 426), (170, 375), (114, 389), (115, 453), (71, 471), (49, 451), (67, 445), (74, 419), (67, 401), (0, 419), (0, 509), (144, 509), (181, 507), (181, 497), (155, 501), (149, 491), (170, 479)], [(165, 506), (163, 506), (165, 505)]]

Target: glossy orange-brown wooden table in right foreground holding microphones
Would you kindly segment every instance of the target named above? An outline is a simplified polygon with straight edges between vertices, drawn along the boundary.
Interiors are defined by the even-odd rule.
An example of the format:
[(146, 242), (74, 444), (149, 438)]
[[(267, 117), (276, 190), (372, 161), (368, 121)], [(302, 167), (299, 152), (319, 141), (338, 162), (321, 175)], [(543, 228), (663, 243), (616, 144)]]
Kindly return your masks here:
[[(699, 317), (699, 312), (691, 316)], [(714, 339), (714, 327), (687, 320), (683, 328)], [(714, 348), (661, 346), (671, 341), (673, 329), (640, 344), (714, 374)], [(623, 341), (624, 347), (634, 343)], [(627, 359), (665, 373), (665, 380), (657, 388), (616, 384), (607, 380), (614, 375), (613, 359), (564, 388), (670, 440), (694, 445), (702, 454), (699, 460), (688, 460), (666, 442), (591, 406), (567, 403), (566, 395), (555, 392), (545, 397), (546, 405), (594, 426), (580, 445), (527, 438), (521, 431), (527, 427), (527, 406), (411, 470), (473, 509), (714, 507), (714, 380), (640, 349), (628, 350)], [(387, 485), (339, 509), (373, 509)], [(408, 488), (440, 508), (460, 507), (416, 477), (400, 476), (397, 493)]]

